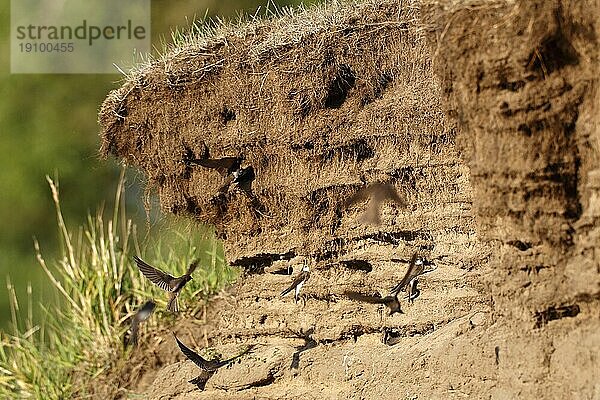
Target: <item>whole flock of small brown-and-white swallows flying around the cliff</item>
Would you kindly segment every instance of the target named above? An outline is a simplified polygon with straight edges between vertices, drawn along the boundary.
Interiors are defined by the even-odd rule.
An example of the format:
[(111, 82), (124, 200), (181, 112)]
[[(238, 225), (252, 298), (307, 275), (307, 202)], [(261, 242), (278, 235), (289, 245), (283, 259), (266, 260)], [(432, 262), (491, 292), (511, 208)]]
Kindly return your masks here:
[[(221, 159), (209, 159), (207, 154), (205, 158), (196, 159), (192, 157), (184, 158), (186, 166), (202, 166), (204, 168), (216, 169), (223, 177), (226, 178), (227, 183), (222, 188), (222, 191), (229, 190), (229, 186), (232, 184), (237, 185), (240, 190), (248, 195), (251, 199), (256, 199), (252, 194), (251, 184), (254, 179), (254, 171), (252, 167), (242, 168), (241, 158), (226, 157)], [(391, 184), (374, 183), (370, 184), (363, 189), (359, 190), (354, 196), (352, 196), (345, 204), (346, 207), (351, 207), (357, 203), (369, 201), (367, 210), (364, 212), (361, 221), (374, 225), (380, 224), (380, 213), (381, 206), (385, 202), (395, 202), (401, 206), (406, 206), (406, 202), (396, 192), (396, 189)], [(254, 203), (254, 201), (253, 201)], [(162, 290), (169, 293), (169, 301), (167, 303), (167, 310), (171, 312), (179, 311), (178, 297), (179, 293), (185, 287), (185, 285), (192, 280), (192, 273), (198, 266), (198, 260), (193, 261), (187, 272), (179, 277), (171, 276), (143, 261), (141, 258), (133, 257), (140, 272), (150, 282), (161, 288)], [(401, 291), (407, 291), (406, 298), (409, 302), (413, 302), (420, 294), (418, 289), (419, 277), (423, 274), (429, 273), (436, 268), (435, 264), (427, 261), (423, 257), (419, 257), (418, 253), (415, 253), (409, 263), (408, 270), (402, 280), (390, 289), (387, 296), (382, 297), (379, 294), (365, 295), (360, 292), (346, 291), (344, 295), (354, 301), (366, 302), (371, 304), (383, 304), (389, 309), (389, 315), (394, 313), (402, 313), (400, 308), (400, 300), (398, 298)], [(300, 291), (304, 284), (310, 278), (310, 269), (306, 263), (303, 264), (299, 274), (293, 279), (291, 285), (283, 290), (280, 294), (284, 297), (294, 292), (294, 300), (297, 303), (300, 299)], [(139, 325), (147, 320), (154, 309), (156, 304), (153, 301), (146, 302), (133, 316), (131, 320), (131, 328), (126, 336), (126, 344), (135, 345), (138, 341)], [(194, 364), (196, 364), (204, 373), (197, 378), (190, 380), (198, 386), (201, 390), (204, 389), (206, 381), (212, 374), (214, 374), (219, 368), (226, 366), (238, 359), (242, 355), (248, 353), (251, 347), (247, 348), (241, 354), (236, 355), (227, 360), (206, 360), (198, 353), (191, 350), (185, 344), (183, 344), (179, 338), (173, 334), (175, 341), (179, 346), (183, 355)]]

